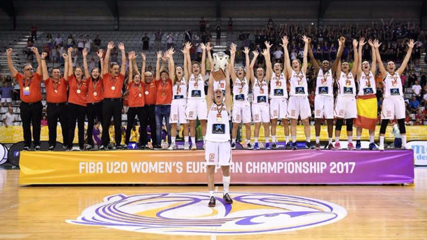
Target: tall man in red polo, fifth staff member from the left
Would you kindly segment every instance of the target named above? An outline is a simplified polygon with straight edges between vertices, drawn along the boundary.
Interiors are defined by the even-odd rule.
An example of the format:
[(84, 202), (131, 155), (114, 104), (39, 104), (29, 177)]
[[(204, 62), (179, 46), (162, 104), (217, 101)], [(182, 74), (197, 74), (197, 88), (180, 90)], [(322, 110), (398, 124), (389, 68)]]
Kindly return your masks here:
[[(110, 135), (108, 128), (110, 126), (111, 117), (113, 116), (114, 121), (114, 138), (115, 148), (122, 149), (121, 141), (121, 125), (122, 125), (122, 87), (125, 80), (126, 74), (126, 54), (125, 45), (123, 43), (118, 44), (118, 48), (122, 55), (121, 67), (117, 63), (110, 65), (110, 52), (114, 48), (114, 42), (109, 42), (107, 46), (107, 52), (104, 59), (104, 69), (102, 70), (102, 83), (104, 90), (104, 99), (102, 101), (102, 146), (99, 150), (106, 150), (109, 145)], [(109, 67), (107, 67), (109, 66)]]

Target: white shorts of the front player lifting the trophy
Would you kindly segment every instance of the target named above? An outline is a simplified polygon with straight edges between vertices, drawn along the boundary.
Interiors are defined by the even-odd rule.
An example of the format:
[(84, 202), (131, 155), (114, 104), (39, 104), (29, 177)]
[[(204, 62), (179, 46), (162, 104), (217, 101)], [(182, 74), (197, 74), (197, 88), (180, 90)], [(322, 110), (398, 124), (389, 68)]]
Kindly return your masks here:
[(230, 143), (206, 141), (205, 160), (207, 165), (230, 166)]

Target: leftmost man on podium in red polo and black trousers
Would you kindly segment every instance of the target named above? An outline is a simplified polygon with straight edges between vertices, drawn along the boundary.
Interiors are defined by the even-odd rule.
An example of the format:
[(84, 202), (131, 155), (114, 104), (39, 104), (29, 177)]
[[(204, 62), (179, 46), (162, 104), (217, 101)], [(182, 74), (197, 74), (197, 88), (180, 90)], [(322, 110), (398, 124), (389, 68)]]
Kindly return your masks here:
[(12, 48), (7, 49), (6, 53), (9, 70), (22, 89), (20, 92), (21, 105), (19, 108), (24, 132), (24, 150), (30, 150), (31, 124), (33, 123), (34, 150), (40, 151), (40, 121), (43, 109), (40, 89), (42, 64), (38, 49), (32, 48), (32, 51), (36, 56), (38, 64), (36, 73), (33, 72), (33, 66), (31, 64), (24, 64), (22, 66), (24, 74), (18, 73), (12, 62)]

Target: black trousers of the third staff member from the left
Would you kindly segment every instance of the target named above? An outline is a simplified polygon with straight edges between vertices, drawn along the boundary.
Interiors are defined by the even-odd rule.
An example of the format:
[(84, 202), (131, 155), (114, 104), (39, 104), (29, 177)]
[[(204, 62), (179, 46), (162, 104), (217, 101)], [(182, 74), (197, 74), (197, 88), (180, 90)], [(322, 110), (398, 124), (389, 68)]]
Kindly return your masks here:
[(68, 103), (68, 147), (73, 145), (74, 130), (77, 129), (79, 135), (79, 147), (84, 147), (84, 119), (86, 118), (86, 107), (74, 103)]

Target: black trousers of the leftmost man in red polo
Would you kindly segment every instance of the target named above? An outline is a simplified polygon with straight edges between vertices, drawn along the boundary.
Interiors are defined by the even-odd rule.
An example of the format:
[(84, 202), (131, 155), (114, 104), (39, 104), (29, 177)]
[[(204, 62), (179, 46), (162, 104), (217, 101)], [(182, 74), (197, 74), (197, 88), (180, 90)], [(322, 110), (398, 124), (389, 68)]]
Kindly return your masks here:
[(43, 105), (41, 101), (35, 103), (21, 102), (19, 105), (24, 131), (24, 146), (31, 147), (31, 125), (33, 125), (34, 146), (40, 145), (40, 123), (42, 120)]

